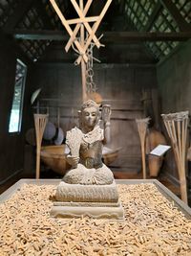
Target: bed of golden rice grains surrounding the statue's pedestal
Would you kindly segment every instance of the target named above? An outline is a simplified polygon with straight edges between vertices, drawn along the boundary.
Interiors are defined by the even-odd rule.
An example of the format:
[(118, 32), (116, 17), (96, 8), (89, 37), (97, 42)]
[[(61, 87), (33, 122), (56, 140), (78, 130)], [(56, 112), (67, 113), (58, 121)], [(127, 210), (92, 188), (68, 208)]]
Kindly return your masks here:
[(0, 204), (0, 255), (191, 255), (191, 220), (154, 184), (117, 186), (125, 221), (53, 219), (55, 186), (24, 184)]

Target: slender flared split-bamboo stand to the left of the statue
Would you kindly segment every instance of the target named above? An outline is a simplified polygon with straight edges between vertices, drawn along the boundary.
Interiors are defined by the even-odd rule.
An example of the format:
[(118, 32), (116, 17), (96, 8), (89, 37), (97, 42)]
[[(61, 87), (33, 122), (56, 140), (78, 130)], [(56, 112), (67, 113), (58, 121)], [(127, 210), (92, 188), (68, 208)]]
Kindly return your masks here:
[(47, 125), (48, 115), (34, 114), (34, 125), (36, 133), (36, 178), (40, 177), (40, 150), (42, 136)]

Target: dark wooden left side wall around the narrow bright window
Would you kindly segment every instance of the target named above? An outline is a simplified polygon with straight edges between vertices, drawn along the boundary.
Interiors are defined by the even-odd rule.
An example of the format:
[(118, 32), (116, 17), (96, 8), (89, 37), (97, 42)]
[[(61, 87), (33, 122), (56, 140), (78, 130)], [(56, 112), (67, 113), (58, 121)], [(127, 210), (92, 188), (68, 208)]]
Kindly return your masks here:
[(14, 92), (16, 58), (26, 59), (16, 51), (10, 39), (0, 36), (0, 184), (23, 170), (24, 134), (31, 122), (30, 115), (30, 67), (25, 88), (23, 124), (21, 133), (9, 133), (12, 97)]

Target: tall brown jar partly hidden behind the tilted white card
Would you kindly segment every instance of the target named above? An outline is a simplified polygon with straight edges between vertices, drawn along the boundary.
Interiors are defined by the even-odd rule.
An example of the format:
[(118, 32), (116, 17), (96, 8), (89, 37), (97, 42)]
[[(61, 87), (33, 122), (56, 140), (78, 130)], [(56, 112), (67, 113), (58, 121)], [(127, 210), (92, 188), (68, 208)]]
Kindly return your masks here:
[[(166, 145), (164, 135), (155, 128), (151, 128), (146, 138), (146, 151), (149, 153), (155, 149), (159, 144)], [(148, 155), (148, 167), (150, 176), (158, 176), (159, 170), (163, 162), (163, 156)]]

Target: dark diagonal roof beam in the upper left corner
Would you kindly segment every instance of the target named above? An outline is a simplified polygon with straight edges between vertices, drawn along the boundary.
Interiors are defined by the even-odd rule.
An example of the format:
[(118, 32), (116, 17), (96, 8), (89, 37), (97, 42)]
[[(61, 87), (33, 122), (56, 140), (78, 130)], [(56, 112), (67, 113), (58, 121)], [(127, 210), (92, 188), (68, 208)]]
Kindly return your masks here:
[(13, 30), (19, 23), (19, 21), (22, 20), (25, 13), (30, 10), (32, 4), (34, 4), (35, 1), (36, 0), (19, 0), (16, 9), (14, 10), (13, 14), (8, 18), (8, 21), (3, 28), (4, 32)]

